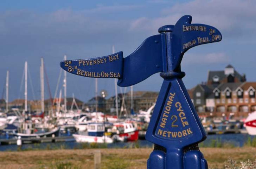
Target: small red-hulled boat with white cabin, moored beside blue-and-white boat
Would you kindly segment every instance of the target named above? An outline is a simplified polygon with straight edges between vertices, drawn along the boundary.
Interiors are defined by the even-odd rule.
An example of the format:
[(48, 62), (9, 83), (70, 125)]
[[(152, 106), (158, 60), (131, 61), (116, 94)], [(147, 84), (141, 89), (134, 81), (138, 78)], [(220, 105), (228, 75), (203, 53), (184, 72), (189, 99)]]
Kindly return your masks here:
[(115, 123), (112, 130), (119, 135), (120, 141), (136, 141), (139, 138), (139, 131), (133, 123)]

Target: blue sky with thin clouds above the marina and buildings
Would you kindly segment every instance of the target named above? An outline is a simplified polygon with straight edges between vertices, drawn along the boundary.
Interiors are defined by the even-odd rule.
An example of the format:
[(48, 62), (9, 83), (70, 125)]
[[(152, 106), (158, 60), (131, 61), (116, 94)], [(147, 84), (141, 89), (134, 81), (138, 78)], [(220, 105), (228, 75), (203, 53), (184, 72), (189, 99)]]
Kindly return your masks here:
[[(209, 70), (224, 70), (228, 64), (245, 73), (247, 81), (256, 81), (255, 9), (254, 0), (1, 0), (0, 94), (9, 70), (9, 101), (24, 98), (21, 82), (27, 61), (28, 99), (40, 99), (43, 57), (53, 96), (64, 55), (67, 59), (106, 56), (114, 45), (126, 57), (147, 37), (158, 34), (159, 27), (175, 24), (183, 15), (191, 15), (192, 23), (208, 24), (222, 33), (222, 41), (185, 53), (181, 70), (186, 72), (183, 81), (188, 89), (205, 82)], [(95, 79), (67, 74), (68, 97), (74, 93), (87, 101), (95, 96)], [(156, 73), (134, 85), (134, 91), (159, 91), (162, 81)], [(63, 77), (58, 89), (62, 85)], [(98, 80), (98, 91), (106, 90), (108, 97), (114, 96), (114, 87), (114, 79)], [(49, 96), (45, 83), (45, 98)]]

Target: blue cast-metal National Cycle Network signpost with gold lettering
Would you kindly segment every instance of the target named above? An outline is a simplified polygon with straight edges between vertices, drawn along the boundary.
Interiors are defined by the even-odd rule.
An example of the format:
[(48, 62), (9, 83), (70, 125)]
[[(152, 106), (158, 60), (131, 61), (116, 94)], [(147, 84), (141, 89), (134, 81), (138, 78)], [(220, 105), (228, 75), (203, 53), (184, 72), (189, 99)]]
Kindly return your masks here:
[(191, 24), (185, 15), (175, 25), (159, 28), (138, 49), (123, 58), (123, 52), (93, 59), (60, 62), (73, 74), (94, 78), (118, 78), (121, 87), (137, 84), (154, 73), (164, 78), (146, 139), (155, 144), (147, 161), (149, 169), (205, 169), (207, 161), (198, 148), (206, 139), (204, 128), (182, 82), (180, 63), (184, 53), (197, 45), (218, 42), (219, 30)]

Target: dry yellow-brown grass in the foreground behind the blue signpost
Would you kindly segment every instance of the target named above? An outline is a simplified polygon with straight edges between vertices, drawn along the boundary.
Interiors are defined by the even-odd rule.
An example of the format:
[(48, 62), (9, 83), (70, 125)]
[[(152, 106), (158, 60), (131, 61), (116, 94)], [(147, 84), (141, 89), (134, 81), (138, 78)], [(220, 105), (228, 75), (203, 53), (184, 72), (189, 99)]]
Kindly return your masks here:
[[(102, 168), (146, 168), (151, 148), (97, 149), (102, 152)], [(223, 168), (228, 157), (244, 161), (256, 159), (256, 148), (201, 148), (210, 168)], [(93, 168), (94, 149), (35, 150), (0, 152), (0, 168)]]

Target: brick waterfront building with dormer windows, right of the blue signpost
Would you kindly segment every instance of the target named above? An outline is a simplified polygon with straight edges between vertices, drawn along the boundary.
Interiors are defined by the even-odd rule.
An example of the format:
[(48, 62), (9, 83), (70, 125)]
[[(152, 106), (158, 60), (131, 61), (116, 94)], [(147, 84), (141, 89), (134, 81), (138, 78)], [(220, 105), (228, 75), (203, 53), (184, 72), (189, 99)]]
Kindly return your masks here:
[(256, 82), (246, 82), (231, 65), (224, 71), (209, 71), (207, 82), (198, 84), (188, 93), (202, 116), (247, 117), (256, 110)]

